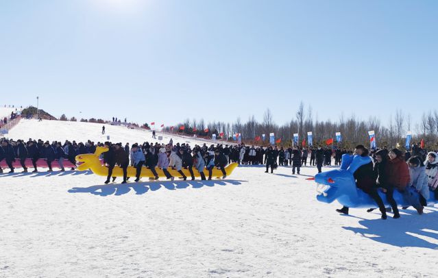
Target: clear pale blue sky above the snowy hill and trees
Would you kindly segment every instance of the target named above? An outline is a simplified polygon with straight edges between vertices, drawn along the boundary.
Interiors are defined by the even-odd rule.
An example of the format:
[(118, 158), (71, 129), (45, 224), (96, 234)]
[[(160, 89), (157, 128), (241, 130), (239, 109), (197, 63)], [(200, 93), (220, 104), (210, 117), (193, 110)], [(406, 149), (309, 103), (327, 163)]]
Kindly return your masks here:
[[(3, 0), (0, 104), (171, 125), (437, 108), (438, 1)], [(80, 114), (82, 112), (82, 114)]]

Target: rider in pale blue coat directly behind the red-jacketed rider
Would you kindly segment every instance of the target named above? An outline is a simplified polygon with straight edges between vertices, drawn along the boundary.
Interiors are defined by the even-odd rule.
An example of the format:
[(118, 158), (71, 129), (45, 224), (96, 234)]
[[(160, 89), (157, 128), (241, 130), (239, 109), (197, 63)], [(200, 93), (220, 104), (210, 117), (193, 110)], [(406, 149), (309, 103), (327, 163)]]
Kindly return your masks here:
[(426, 167), (419, 157), (409, 158), (409, 175), (411, 176), (409, 186), (415, 187), (420, 196), (419, 203), (426, 206), (427, 199), (429, 199), (428, 177), (426, 175)]

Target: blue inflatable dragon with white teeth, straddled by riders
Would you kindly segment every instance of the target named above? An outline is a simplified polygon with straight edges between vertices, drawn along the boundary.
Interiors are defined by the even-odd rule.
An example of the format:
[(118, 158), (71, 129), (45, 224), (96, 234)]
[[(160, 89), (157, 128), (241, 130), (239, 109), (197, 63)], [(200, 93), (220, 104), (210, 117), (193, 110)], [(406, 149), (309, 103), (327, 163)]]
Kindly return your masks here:
[[(345, 207), (377, 207), (376, 202), (368, 194), (356, 188), (356, 181), (353, 173), (360, 166), (371, 162), (371, 157), (361, 157), (360, 155), (342, 155), (341, 168), (319, 173), (315, 176), (317, 183), (317, 200), (323, 203), (332, 203), (337, 200)], [(414, 188), (409, 188), (410, 198), (419, 198), (419, 194)], [(385, 193), (378, 190), (385, 207), (390, 207)], [(398, 190), (394, 190), (394, 200), (399, 206), (409, 206), (409, 203), (402, 197)], [(431, 192), (428, 203), (437, 203), (434, 194)]]

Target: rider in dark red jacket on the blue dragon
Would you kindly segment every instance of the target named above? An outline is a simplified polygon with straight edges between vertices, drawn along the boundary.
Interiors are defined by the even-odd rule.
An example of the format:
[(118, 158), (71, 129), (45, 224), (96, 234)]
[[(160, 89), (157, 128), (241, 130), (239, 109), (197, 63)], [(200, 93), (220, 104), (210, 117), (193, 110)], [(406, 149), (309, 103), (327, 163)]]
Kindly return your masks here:
[(387, 183), (402, 193), (403, 198), (417, 210), (418, 214), (423, 213), (423, 206), (419, 203), (419, 198), (409, 190), (408, 185), (411, 181), (409, 176), (408, 164), (404, 162), (402, 151), (391, 149), (389, 152), (389, 162), (387, 165)]

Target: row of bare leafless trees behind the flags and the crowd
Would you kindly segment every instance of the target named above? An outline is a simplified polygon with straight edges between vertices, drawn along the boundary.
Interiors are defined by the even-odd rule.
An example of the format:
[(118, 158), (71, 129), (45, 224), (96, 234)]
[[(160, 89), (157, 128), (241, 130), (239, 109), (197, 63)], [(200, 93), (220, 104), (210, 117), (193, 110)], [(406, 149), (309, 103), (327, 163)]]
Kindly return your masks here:
[[(291, 144), (293, 134), (299, 134), (298, 142), (300, 145), (303, 140), (307, 141), (307, 132), (313, 132), (313, 143), (324, 145), (328, 138), (334, 138), (336, 132), (341, 132), (343, 142), (339, 144), (341, 147), (352, 148), (355, 144), (369, 144), (368, 131), (376, 132), (376, 140), (378, 146), (386, 145), (387, 147), (404, 147), (406, 132), (411, 131), (413, 134), (412, 142), (419, 142), (424, 139), (426, 147), (438, 148), (438, 111), (424, 112), (419, 123), (411, 123), (411, 116), (404, 114), (402, 110), (396, 110), (395, 114), (389, 117), (387, 125), (384, 125), (380, 118), (369, 116), (367, 119), (357, 118), (354, 114), (350, 117), (345, 117), (343, 114), (339, 116), (339, 120), (332, 122), (318, 121), (317, 116), (313, 118), (313, 110), (311, 105), (307, 107), (303, 102), (298, 105), (297, 111), (291, 121), (283, 125), (277, 125), (273, 121), (271, 110), (267, 109), (263, 114), (263, 121), (259, 123), (254, 116), (250, 116), (247, 121), (243, 122), (241, 118), (237, 118), (234, 123), (225, 123), (221, 121), (213, 121), (205, 123), (204, 119), (186, 119), (184, 123), (175, 125), (175, 129), (184, 126), (185, 134), (198, 134), (199, 136), (210, 136), (211, 134), (219, 134), (223, 132), (227, 138), (232, 138), (233, 134), (240, 133), (243, 142), (254, 142), (256, 136), (266, 135), (266, 140), (269, 138), (269, 133), (273, 132), (276, 138), (282, 138), (282, 144)], [(193, 128), (196, 129), (193, 132)], [(208, 128), (208, 133), (204, 130)], [(165, 130), (170, 131), (169, 127)], [(268, 142), (261, 142), (267, 144)]]

